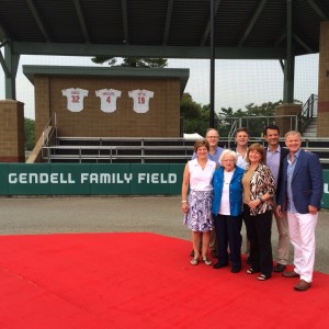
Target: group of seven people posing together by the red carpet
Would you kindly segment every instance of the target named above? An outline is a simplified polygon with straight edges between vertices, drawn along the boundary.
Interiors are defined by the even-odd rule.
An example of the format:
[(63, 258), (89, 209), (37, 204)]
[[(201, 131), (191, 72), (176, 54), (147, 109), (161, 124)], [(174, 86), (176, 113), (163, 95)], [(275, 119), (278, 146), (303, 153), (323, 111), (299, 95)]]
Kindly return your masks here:
[[(315, 228), (324, 189), (318, 157), (302, 148), (296, 131), (285, 135), (266, 126), (268, 147), (249, 144), (247, 128), (236, 133), (236, 149), (218, 146), (219, 133), (209, 128), (205, 139), (196, 140), (182, 183), (184, 224), (192, 230), (192, 265), (212, 265), (208, 249), (216, 257), (214, 269), (231, 263), (241, 271), (242, 222), (246, 225), (246, 254), (250, 268), (266, 281), (272, 272), (299, 277), (296, 291), (307, 291), (313, 281)], [(273, 268), (271, 228), (274, 216), (279, 232), (277, 262)], [(294, 270), (286, 271), (290, 242), (294, 246)]]

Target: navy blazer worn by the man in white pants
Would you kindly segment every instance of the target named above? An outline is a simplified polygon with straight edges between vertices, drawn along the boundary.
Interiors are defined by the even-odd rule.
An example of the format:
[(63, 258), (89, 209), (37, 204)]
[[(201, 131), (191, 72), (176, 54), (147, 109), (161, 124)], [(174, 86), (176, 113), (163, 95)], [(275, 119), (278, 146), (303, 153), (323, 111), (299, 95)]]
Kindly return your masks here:
[[(282, 211), (287, 206), (287, 162), (288, 156), (283, 161), (282, 181), (277, 205)], [(300, 149), (292, 179), (293, 201), (299, 214), (307, 214), (308, 206), (320, 209), (324, 192), (322, 168), (317, 155)]]

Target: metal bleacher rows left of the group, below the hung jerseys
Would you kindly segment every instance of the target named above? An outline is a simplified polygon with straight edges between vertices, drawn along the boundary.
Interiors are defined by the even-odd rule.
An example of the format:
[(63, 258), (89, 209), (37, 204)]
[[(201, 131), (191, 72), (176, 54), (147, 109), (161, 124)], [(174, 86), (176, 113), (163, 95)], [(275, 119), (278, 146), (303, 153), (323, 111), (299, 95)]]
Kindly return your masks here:
[(48, 162), (183, 163), (193, 155), (194, 140), (184, 138), (57, 137), (44, 146)]

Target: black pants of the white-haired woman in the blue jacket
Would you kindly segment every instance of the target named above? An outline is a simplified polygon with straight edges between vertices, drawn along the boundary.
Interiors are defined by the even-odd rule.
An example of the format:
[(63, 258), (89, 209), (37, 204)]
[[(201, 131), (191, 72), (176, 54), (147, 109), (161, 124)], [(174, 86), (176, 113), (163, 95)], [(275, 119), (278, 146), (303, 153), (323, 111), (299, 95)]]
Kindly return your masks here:
[(218, 263), (228, 263), (229, 247), (232, 269), (241, 269), (241, 216), (214, 216), (214, 224), (217, 238)]

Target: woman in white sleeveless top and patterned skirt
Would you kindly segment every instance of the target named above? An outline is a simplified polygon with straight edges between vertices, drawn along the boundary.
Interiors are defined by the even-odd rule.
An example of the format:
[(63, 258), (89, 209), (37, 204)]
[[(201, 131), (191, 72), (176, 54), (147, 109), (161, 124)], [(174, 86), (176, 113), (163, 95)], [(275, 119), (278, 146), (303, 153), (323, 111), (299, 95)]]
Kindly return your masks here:
[[(212, 261), (206, 254), (209, 247), (209, 231), (214, 229), (212, 217), (212, 180), (216, 162), (209, 160), (207, 157), (209, 145), (206, 139), (196, 140), (194, 151), (196, 158), (190, 160), (184, 170), (182, 211), (184, 213), (184, 224), (192, 230), (194, 258), (191, 260), (191, 264), (198, 264), (202, 232), (202, 261), (206, 265), (211, 265)], [(188, 196), (189, 188), (190, 194)]]

